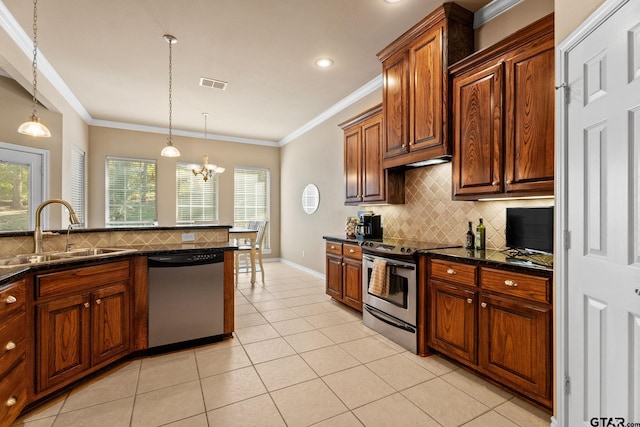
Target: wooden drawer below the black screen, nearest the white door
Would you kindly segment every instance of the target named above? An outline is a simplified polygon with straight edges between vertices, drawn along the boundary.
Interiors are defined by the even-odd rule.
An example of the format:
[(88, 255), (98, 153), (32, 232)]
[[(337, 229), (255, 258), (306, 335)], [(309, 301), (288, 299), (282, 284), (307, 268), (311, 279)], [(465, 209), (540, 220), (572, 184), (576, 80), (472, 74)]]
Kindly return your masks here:
[(480, 286), (483, 289), (533, 301), (551, 302), (550, 282), (551, 280), (547, 277), (530, 276), (492, 268), (480, 269)]

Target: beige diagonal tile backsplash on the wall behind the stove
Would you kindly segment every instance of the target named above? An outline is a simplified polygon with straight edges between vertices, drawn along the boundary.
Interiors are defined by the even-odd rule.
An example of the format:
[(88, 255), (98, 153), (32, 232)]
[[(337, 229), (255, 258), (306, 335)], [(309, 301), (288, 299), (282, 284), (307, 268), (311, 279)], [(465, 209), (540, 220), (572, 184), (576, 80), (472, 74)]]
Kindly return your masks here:
[(370, 206), (382, 215), (385, 237), (464, 244), (467, 223), (482, 218), (487, 248), (505, 247), (506, 208), (552, 206), (553, 199), (465, 202), (451, 200), (451, 163), (407, 170), (405, 204)]

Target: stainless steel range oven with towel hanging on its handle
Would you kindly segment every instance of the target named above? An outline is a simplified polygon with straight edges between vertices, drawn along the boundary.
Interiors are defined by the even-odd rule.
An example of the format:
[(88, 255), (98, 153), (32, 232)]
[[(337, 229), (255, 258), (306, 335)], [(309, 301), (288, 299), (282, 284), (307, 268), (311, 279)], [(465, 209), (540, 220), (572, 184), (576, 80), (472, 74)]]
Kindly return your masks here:
[[(363, 242), (362, 322), (391, 341), (417, 353), (417, 277), (422, 273), (417, 271), (414, 256), (420, 250), (447, 247), (452, 246), (388, 238)], [(370, 286), (375, 264), (378, 268), (384, 265), (384, 292)]]

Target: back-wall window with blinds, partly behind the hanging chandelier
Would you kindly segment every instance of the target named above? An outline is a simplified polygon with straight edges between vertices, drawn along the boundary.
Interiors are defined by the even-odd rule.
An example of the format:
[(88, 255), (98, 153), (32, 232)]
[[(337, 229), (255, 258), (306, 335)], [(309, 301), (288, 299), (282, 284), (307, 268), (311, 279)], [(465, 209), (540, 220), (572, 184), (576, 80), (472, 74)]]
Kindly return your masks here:
[(217, 221), (218, 175), (205, 182), (202, 176), (194, 176), (191, 168), (188, 163), (176, 165), (176, 222)]

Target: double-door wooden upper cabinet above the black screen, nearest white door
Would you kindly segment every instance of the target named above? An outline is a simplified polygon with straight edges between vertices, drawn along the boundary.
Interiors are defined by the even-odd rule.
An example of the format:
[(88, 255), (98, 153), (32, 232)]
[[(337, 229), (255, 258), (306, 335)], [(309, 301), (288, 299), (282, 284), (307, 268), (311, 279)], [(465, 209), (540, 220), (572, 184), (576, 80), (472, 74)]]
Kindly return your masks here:
[(553, 195), (553, 14), (453, 65), (453, 197)]

